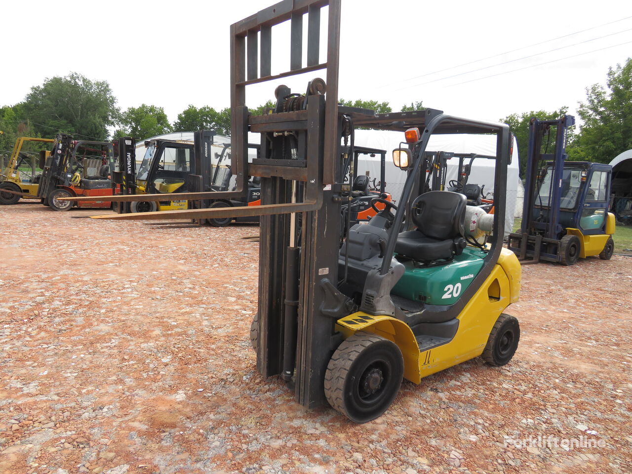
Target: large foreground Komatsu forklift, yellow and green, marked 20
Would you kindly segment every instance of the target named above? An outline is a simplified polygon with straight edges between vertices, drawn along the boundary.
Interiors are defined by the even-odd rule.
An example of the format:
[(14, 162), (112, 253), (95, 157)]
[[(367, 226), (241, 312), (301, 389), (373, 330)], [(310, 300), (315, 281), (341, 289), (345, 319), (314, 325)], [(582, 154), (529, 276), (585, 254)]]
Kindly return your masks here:
[[(323, 6), (329, 7), (325, 62), (319, 57)], [(520, 328), (503, 311), (518, 300), (520, 264), (502, 248), (507, 126), (434, 109), (376, 114), (339, 106), (339, 15), (339, 0), (286, 0), (231, 26), (236, 189), (217, 191), (216, 198), (244, 197), (248, 176), (259, 176), (260, 206), (102, 218), (262, 216), (257, 370), (264, 377), (280, 375), (303, 406), (328, 402), (351, 420), (367, 422), (387, 410), (403, 377), (420, 383), (481, 355), (491, 365), (511, 360)], [(290, 70), (272, 75), (271, 30), (287, 20)], [(272, 113), (249, 114), (248, 85), (324, 69), (326, 85), (315, 78), (305, 94), (279, 86)], [(368, 224), (349, 229), (339, 248), (344, 162), (353, 155), (356, 126), (398, 130), (403, 137), (405, 132), (407, 145), (393, 158), (408, 175), (401, 205), (375, 197), (385, 208)], [(248, 131), (261, 134), (261, 155), (252, 163), (246, 155)], [(460, 193), (423, 193), (423, 154), (432, 133), (496, 136), (495, 214), (468, 207)], [(350, 178), (353, 183), (353, 173)], [(485, 235), (489, 240), (483, 244)]]

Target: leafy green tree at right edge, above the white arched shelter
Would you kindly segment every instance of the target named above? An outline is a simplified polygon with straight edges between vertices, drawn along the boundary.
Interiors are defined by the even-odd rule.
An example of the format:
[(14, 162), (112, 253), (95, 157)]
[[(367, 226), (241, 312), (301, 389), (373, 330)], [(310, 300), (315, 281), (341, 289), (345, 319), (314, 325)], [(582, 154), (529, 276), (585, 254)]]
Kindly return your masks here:
[(578, 109), (583, 125), (569, 149), (573, 159), (608, 163), (632, 148), (632, 58), (609, 68), (606, 85), (586, 88)]

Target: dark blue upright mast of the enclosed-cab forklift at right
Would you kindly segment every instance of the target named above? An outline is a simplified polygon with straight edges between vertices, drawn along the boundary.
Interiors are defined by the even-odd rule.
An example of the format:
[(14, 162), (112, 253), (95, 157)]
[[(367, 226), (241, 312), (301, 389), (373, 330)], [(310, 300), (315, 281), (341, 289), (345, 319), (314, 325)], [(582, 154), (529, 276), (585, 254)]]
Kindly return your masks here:
[[(538, 120), (532, 118), (529, 131), (529, 147), (526, 161), (525, 200), (523, 202), (523, 219), (521, 233), (541, 234), (544, 238), (557, 239), (562, 232), (559, 222), (560, 203), (562, 195), (562, 178), (564, 174), (564, 162), (566, 161), (566, 136), (569, 126), (573, 126), (575, 118), (572, 115), (563, 115), (556, 120)], [(555, 128), (555, 147), (552, 153), (547, 153), (551, 128)], [(542, 153), (542, 145), (545, 152)], [(541, 180), (544, 176), (544, 164), (552, 161), (552, 190), (549, 198), (549, 218), (544, 221), (536, 221), (532, 218)]]

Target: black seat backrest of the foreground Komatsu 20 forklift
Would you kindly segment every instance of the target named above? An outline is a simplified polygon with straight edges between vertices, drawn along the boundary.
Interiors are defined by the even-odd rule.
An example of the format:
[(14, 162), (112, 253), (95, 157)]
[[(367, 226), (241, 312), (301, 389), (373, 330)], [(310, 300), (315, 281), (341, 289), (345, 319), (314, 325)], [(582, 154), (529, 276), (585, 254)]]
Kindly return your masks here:
[(453, 191), (428, 191), (413, 201), (411, 217), (418, 230), (437, 240), (463, 235), (465, 195)]

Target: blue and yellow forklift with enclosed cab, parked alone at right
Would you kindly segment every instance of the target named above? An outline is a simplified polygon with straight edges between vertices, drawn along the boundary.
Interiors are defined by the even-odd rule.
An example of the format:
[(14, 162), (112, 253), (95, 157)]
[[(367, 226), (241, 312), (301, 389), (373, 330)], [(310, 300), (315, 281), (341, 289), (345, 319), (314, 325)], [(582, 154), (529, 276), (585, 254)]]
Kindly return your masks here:
[[(521, 260), (574, 265), (592, 255), (609, 260), (614, 252), (615, 218), (608, 212), (612, 166), (566, 161), (566, 131), (574, 123), (571, 115), (531, 119), (523, 220), (507, 244)], [(549, 154), (552, 128), (555, 145)]]

